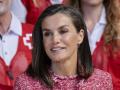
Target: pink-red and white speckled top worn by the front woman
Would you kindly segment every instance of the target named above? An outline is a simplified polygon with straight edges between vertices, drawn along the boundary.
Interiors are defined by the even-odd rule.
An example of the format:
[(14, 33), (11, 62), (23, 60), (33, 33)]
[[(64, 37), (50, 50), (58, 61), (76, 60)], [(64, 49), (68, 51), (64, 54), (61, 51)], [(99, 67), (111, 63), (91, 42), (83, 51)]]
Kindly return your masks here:
[[(111, 76), (99, 69), (87, 79), (80, 79), (78, 76), (59, 76), (52, 74), (54, 81), (52, 90), (113, 90)], [(41, 81), (21, 74), (16, 79), (14, 90), (50, 90)]]

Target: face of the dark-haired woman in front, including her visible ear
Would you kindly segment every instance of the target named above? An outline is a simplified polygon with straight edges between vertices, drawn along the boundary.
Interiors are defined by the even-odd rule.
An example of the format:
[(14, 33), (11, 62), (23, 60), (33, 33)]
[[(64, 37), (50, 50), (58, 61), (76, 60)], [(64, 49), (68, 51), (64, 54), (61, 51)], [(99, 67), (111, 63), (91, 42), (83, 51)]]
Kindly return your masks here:
[(83, 30), (76, 32), (70, 17), (57, 13), (42, 22), (43, 44), (52, 62), (75, 59), (78, 44), (83, 40)]

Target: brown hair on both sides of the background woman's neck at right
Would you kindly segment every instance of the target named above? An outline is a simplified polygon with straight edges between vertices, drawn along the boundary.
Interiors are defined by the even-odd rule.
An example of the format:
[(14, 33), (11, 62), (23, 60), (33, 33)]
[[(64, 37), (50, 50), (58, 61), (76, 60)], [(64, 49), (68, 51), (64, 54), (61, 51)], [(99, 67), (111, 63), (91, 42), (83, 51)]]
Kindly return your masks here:
[[(79, 9), (83, 14), (81, 7), (81, 0), (71, 0), (74, 1), (72, 6)], [(106, 21), (107, 24), (104, 28), (103, 38), (105, 44), (110, 43), (117, 35), (120, 22), (120, 1), (119, 0), (103, 0), (103, 5), (106, 10)]]

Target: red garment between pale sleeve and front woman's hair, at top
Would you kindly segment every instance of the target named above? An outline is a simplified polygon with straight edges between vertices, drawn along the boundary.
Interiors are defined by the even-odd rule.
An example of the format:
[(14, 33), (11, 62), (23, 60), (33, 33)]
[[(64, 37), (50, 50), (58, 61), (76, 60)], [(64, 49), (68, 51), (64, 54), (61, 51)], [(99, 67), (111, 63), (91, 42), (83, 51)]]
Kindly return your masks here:
[(27, 10), (26, 22), (35, 24), (40, 14), (50, 5), (49, 0), (39, 0), (40, 6), (36, 7), (33, 0), (22, 0)]

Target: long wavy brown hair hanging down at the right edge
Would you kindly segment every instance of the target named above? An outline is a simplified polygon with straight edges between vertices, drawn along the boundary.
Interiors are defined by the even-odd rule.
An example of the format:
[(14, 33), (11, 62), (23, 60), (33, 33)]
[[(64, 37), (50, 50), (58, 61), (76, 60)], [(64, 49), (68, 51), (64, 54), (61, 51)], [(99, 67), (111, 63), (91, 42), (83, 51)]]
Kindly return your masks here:
[(105, 43), (110, 43), (117, 36), (120, 22), (120, 2), (119, 0), (110, 0), (106, 10), (107, 24), (104, 30)]

